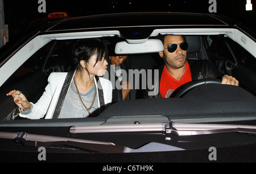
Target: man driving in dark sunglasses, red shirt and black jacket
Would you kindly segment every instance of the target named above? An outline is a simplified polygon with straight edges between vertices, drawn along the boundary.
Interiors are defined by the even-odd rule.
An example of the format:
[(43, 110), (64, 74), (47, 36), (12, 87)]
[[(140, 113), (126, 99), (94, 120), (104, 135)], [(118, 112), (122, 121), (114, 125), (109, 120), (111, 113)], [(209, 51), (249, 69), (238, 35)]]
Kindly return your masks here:
[[(146, 97), (168, 98), (177, 88), (192, 80), (221, 78), (217, 69), (207, 60), (188, 63), (188, 44), (184, 42), (183, 36), (166, 35), (161, 40), (164, 50), (159, 52), (159, 55), (164, 65), (159, 68), (159, 79), (153, 81), (153, 86), (148, 86)], [(225, 75), (221, 84), (238, 86), (238, 81), (232, 76)]]

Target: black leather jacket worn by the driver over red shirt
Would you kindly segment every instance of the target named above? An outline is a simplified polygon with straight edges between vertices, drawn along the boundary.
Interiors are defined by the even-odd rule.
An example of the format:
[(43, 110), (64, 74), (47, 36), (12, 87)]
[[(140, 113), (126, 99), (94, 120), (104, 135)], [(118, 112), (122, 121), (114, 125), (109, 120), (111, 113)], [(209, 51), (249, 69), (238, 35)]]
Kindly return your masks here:
[[(218, 72), (216, 67), (210, 63), (208, 60), (188, 60), (188, 64), (191, 70), (191, 77), (193, 80), (200, 80), (205, 78), (219, 78), (221, 79), (221, 74)], [(159, 69), (159, 78), (158, 81), (152, 79), (152, 86), (147, 86), (147, 89), (143, 92), (144, 98), (161, 98), (159, 84), (163, 72), (164, 64), (160, 65)], [(154, 72), (154, 71), (152, 71)], [(154, 78), (154, 74), (152, 74)], [(147, 84), (148, 85), (148, 84)]]

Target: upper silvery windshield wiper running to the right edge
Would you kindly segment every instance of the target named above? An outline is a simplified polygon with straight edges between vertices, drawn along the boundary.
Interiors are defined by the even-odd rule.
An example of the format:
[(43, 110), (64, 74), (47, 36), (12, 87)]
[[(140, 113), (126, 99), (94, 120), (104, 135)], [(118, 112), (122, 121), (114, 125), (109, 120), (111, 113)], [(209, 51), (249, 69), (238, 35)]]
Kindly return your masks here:
[(71, 126), (69, 132), (150, 132), (164, 131), (178, 136), (217, 134), (224, 132), (240, 132), (256, 135), (256, 126), (250, 125), (221, 125), (221, 124), (193, 124), (193, 123), (156, 123), (133, 125), (100, 125), (100, 126)]

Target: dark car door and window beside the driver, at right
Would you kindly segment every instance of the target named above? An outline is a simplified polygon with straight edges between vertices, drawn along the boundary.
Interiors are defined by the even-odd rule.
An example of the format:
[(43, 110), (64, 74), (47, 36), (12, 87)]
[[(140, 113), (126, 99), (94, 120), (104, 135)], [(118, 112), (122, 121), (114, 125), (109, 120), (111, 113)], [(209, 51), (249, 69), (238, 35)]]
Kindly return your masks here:
[(255, 57), (225, 35), (210, 35), (204, 39), (208, 57), (218, 71), (235, 77), (242, 88), (256, 96)]

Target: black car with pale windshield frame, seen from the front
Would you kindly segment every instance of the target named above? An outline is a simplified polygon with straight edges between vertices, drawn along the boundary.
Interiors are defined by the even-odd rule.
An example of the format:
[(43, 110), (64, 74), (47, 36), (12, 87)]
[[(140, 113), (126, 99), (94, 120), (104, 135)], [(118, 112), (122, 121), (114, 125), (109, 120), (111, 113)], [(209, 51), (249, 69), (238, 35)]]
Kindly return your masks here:
[[(187, 59), (208, 60), (239, 81), (192, 81), (171, 98), (144, 98), (163, 64), (159, 35), (184, 35)], [(131, 92), (97, 117), (21, 119), (18, 89), (36, 102), (51, 72), (71, 69), (77, 40), (100, 39), (125, 61)], [(109, 50), (110, 50), (109, 49)], [(197, 13), (121, 13), (61, 19), (24, 36), (0, 57), (1, 161), (210, 162), (256, 161), (256, 35), (225, 16)], [(99, 171), (114, 165), (99, 164)], [(118, 164), (115, 164), (118, 166)], [(158, 165), (119, 165), (124, 171)]]

